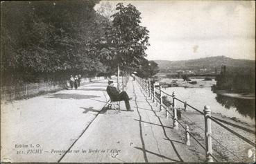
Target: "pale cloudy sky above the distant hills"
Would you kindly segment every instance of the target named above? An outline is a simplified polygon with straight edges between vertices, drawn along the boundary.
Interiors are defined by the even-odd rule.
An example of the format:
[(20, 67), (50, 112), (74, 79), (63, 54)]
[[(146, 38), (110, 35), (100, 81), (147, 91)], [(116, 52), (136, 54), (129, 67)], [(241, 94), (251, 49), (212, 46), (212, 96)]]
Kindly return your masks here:
[[(95, 8), (98, 8), (101, 1)], [(255, 60), (255, 1), (109, 1), (131, 3), (149, 30), (148, 60), (224, 55)]]

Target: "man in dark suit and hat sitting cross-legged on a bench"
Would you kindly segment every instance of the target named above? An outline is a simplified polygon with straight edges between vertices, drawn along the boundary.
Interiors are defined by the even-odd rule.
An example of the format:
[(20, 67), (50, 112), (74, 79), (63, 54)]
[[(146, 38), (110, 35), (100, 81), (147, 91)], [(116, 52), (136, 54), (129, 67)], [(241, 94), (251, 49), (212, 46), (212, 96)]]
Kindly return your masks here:
[(129, 100), (132, 100), (132, 98), (129, 98), (126, 91), (122, 91), (121, 93), (119, 93), (116, 87), (114, 87), (113, 81), (108, 81), (107, 93), (112, 101), (124, 101), (126, 103), (126, 110), (133, 111), (130, 109), (129, 103)]

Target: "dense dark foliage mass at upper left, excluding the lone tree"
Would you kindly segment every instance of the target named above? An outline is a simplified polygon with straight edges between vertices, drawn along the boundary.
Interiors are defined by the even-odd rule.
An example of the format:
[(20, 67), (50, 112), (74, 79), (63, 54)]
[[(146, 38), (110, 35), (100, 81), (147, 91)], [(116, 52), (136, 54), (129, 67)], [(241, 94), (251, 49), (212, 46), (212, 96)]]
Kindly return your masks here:
[(108, 24), (107, 19), (94, 11), (96, 3), (1, 3), (2, 77), (29, 81), (45, 73), (104, 71), (88, 44), (104, 35), (103, 26)]

